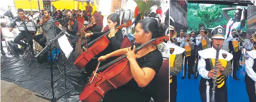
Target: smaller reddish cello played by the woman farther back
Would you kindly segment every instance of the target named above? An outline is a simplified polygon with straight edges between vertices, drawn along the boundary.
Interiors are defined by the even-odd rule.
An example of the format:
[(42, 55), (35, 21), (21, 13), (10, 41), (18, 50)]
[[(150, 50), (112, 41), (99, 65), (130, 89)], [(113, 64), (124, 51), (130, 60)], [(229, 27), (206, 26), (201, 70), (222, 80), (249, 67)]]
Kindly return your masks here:
[[(131, 26), (131, 21), (127, 21), (127, 24), (119, 25), (115, 27), (115, 30), (121, 29), (122, 27), (129, 27)], [(88, 49), (87, 51), (83, 51), (77, 59), (74, 61), (74, 65), (78, 69), (82, 69), (86, 64), (89, 63), (89, 61), (95, 57), (95, 55), (100, 54), (100, 52), (104, 51), (105, 48), (108, 47), (109, 40), (106, 35), (110, 33), (110, 30), (106, 32), (105, 34), (100, 35), (100, 37), (92, 40), (90, 43), (88, 43)]]

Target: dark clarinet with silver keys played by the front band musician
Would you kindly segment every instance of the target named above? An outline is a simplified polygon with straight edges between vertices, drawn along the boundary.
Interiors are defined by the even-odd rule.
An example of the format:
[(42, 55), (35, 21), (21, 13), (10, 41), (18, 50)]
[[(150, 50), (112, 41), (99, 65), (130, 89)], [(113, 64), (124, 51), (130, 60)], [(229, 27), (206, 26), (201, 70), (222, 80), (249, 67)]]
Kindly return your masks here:
[(218, 68), (216, 67), (217, 61), (219, 60), (219, 51), (220, 51), (220, 45), (217, 45), (217, 52), (216, 52), (216, 59), (215, 59), (215, 64), (214, 64), (214, 69), (217, 70), (214, 73), (214, 78), (213, 78), (213, 91), (212, 91), (212, 99), (211, 102), (215, 102), (215, 88), (217, 86), (217, 75), (218, 75)]

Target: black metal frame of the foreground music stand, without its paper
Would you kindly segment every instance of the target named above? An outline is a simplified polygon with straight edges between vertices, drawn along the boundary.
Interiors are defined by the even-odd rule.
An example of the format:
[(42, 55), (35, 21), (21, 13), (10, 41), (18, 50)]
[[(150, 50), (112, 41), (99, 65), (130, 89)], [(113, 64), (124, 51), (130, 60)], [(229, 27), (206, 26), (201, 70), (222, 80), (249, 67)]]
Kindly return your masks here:
[[(61, 95), (60, 97), (58, 97), (58, 98), (55, 98), (55, 96), (54, 96), (54, 89), (53, 89), (53, 70), (52, 70), (52, 65), (53, 65), (53, 61), (52, 61), (52, 44), (56, 44), (55, 42), (56, 42), (57, 38), (58, 38), (63, 32), (64, 32), (64, 30), (62, 30), (62, 31), (60, 32), (60, 34), (58, 34), (53, 40), (51, 40), (50, 43), (47, 43), (47, 46), (44, 47), (43, 50), (39, 52), (39, 54), (35, 55), (35, 57), (38, 57), (38, 56), (40, 55), (40, 53), (43, 52), (46, 48), (48, 48), (48, 47), (50, 48), (50, 69), (51, 69), (52, 98), (48, 98), (48, 97), (44, 96), (44, 94), (45, 94), (46, 92), (43, 93), (43, 94), (41, 94), (41, 93), (38, 94), (38, 93), (37, 93), (37, 94), (35, 94), (35, 95), (36, 95), (36, 96), (39, 96), (39, 97), (41, 97), (41, 98), (45, 98), (45, 99), (51, 100), (51, 102), (56, 102), (56, 100), (60, 99), (62, 96), (64, 96), (65, 94), (67, 94), (67, 93), (69, 93), (69, 92), (71, 91), (71, 90), (69, 90), (68, 92), (62, 94), (62, 95)], [(59, 79), (60, 79), (60, 78), (59, 78)], [(57, 79), (56, 81), (58, 81), (59, 79)], [(56, 82), (56, 81), (54, 81), (54, 82)], [(65, 81), (65, 82), (66, 82), (66, 81)], [(66, 84), (65, 84), (65, 85), (66, 85)]]

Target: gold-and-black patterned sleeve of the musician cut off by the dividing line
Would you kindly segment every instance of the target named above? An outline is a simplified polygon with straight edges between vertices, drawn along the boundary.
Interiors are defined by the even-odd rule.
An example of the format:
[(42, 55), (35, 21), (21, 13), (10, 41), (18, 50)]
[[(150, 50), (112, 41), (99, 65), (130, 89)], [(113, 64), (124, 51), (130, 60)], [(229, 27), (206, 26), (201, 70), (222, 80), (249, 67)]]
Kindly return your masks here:
[(174, 59), (174, 68), (169, 68), (170, 69), (170, 75), (178, 75), (181, 72), (181, 68), (182, 68), (182, 54), (178, 54), (176, 55), (175, 59)]

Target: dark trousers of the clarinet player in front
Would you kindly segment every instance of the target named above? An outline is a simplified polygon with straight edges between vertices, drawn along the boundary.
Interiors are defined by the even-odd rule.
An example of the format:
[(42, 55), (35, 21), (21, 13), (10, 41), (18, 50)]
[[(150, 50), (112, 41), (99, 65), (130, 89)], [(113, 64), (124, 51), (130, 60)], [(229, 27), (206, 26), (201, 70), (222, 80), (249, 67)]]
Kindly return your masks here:
[[(213, 85), (206, 85), (205, 83), (200, 83), (199, 90), (202, 102), (207, 102), (207, 100), (211, 101), (212, 89)], [(225, 84), (221, 88), (215, 88), (215, 102), (228, 102), (227, 96), (227, 86), (225, 80)]]

